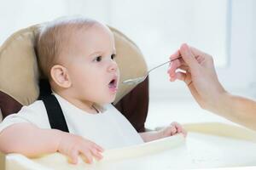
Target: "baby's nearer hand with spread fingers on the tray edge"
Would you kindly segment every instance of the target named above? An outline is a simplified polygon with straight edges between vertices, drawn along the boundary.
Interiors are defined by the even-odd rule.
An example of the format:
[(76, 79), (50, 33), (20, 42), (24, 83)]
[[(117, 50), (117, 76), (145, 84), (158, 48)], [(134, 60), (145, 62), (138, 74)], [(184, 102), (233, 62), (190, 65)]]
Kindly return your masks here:
[(71, 159), (71, 163), (76, 164), (79, 161), (79, 155), (84, 157), (86, 163), (93, 161), (93, 156), (97, 160), (102, 159), (102, 147), (84, 139), (81, 136), (72, 133), (61, 132), (61, 141), (58, 145), (58, 151)]

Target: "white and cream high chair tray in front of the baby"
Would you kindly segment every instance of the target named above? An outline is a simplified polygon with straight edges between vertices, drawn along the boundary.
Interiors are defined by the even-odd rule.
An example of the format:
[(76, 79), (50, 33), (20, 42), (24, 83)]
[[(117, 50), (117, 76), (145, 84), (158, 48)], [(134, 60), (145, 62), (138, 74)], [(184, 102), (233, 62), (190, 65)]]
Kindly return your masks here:
[[(29, 159), (20, 154), (2, 156), (1, 169), (188, 169), (243, 167), (256, 169), (256, 133), (218, 122), (185, 124), (186, 139), (178, 134), (130, 147), (106, 150), (102, 161), (69, 164), (59, 153)], [(251, 166), (251, 167), (248, 167)], [(236, 168), (235, 168), (236, 167)], [(233, 168), (230, 168), (233, 169)]]

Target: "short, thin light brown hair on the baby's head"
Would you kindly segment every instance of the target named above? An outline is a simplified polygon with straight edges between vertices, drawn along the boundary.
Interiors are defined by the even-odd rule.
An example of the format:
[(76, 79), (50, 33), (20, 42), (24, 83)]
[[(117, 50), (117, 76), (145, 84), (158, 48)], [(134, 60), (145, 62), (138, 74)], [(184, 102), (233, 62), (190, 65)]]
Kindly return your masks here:
[(50, 69), (58, 64), (61, 51), (70, 48), (69, 40), (78, 31), (99, 23), (86, 18), (62, 18), (40, 28), (36, 42), (38, 64), (44, 77), (50, 79)]

